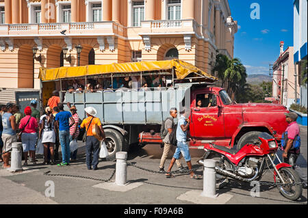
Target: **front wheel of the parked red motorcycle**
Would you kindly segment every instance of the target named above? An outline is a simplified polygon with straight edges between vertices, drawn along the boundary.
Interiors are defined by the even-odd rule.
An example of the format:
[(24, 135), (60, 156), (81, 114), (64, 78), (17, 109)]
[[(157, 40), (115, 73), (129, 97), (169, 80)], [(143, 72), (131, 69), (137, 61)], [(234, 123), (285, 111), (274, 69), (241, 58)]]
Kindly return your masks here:
[[(279, 169), (279, 173), (283, 177), (283, 180), (287, 183), (300, 182), (300, 178), (296, 171), (290, 167), (282, 167)], [(276, 181), (281, 182), (279, 176), (276, 176)], [(277, 185), (281, 195), (289, 200), (295, 201), (302, 195), (303, 187), (302, 185)]]

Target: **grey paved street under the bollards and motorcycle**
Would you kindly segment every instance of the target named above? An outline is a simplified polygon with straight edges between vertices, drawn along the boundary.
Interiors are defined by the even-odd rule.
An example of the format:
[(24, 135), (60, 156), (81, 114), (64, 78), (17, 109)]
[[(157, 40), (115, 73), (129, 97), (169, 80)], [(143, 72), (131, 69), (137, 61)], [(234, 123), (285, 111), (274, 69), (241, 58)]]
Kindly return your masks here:
[[(307, 172), (307, 126), (300, 126), (300, 130), (303, 141), (298, 163)], [(128, 191), (104, 189), (102, 188), (104, 182), (98, 180), (43, 175), (48, 170), (51, 174), (89, 176), (104, 180), (112, 175), (115, 162), (101, 161), (97, 171), (88, 170), (85, 164), (84, 146), (81, 142), (79, 146), (78, 161), (68, 167), (29, 165), (24, 172), (15, 174), (0, 169), (0, 204), (194, 204), (182, 200), (183, 195), (203, 190), (203, 180), (192, 180), (188, 174), (177, 174), (175, 178), (167, 179), (164, 174), (153, 174), (131, 165), (127, 167), (127, 180), (130, 184), (139, 186)], [(156, 171), (161, 153), (162, 148), (159, 146), (144, 146), (140, 150), (130, 152), (128, 162)], [(281, 152), (279, 153), (281, 155)], [(203, 155), (203, 151), (191, 150), (191, 154), (193, 167), (198, 167), (196, 161)], [(170, 154), (169, 158), (171, 157)], [(181, 162), (186, 166), (183, 160)], [(42, 163), (42, 159), (39, 159), (38, 163)], [(170, 159), (166, 161), (165, 169), (169, 163)], [(176, 167), (173, 168), (175, 169)], [(198, 169), (196, 173), (202, 174), (202, 169)], [(109, 185), (113, 184), (114, 179), (115, 176)], [(45, 197), (48, 188), (45, 182), (49, 180), (55, 185), (54, 197)], [(262, 181), (273, 182), (272, 172), (267, 171)], [(260, 191), (259, 197), (251, 197), (249, 184), (231, 181), (227, 187), (218, 190), (218, 193), (222, 196), (228, 195), (230, 198), (223, 204), (307, 204), (307, 189), (303, 189), (303, 196), (297, 202), (287, 200), (275, 187), (261, 185)], [(195, 197), (200, 196), (195, 195)], [(211, 201), (207, 203), (210, 204)]]

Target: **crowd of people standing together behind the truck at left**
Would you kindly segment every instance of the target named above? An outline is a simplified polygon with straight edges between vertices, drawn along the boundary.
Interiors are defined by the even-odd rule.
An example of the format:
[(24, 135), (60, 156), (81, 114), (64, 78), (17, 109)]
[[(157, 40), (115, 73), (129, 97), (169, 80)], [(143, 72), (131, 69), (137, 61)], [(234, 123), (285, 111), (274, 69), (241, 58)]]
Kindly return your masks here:
[[(21, 141), (23, 146), (23, 165), (31, 162), (36, 165), (36, 146), (41, 141), (44, 147), (45, 164), (55, 164), (59, 159), (59, 146), (62, 150), (62, 161), (58, 166), (69, 165), (70, 161), (77, 160), (78, 149), (70, 152), (70, 142), (77, 141), (79, 136), (79, 115), (74, 105), (67, 103), (70, 111), (64, 111), (60, 103), (59, 92), (53, 91), (49, 98), (43, 115), (36, 109), (37, 100), (31, 100), (30, 106), (25, 107), (23, 113), (14, 103), (0, 105), (0, 162), (3, 168), (10, 167), (12, 143)], [(93, 137), (92, 126), (97, 124), (105, 138), (105, 133), (99, 118), (94, 118), (97, 111), (93, 107), (85, 109), (88, 118), (81, 123), (81, 128), (86, 128), (86, 164), (88, 169), (97, 169), (99, 163), (99, 140)]]

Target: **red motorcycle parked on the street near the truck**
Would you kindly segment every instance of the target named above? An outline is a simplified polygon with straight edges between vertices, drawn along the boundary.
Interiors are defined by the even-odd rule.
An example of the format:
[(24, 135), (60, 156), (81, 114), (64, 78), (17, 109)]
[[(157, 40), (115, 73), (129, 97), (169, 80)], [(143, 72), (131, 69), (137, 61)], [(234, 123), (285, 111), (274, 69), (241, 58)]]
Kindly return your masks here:
[[(281, 163), (276, 154), (279, 146), (276, 139), (268, 133), (260, 133), (259, 143), (246, 144), (240, 150), (207, 144), (203, 159), (216, 159), (218, 188), (224, 187), (229, 182), (228, 178), (252, 182), (261, 180), (264, 169), (269, 167), (268, 162), (274, 168), (274, 182), (280, 193), (289, 200), (297, 200), (302, 195), (303, 187), (300, 178), (291, 165)], [(277, 157), (279, 164), (275, 165), (273, 157)], [(199, 160), (203, 165), (203, 161)], [(296, 184), (296, 185), (292, 185)]]

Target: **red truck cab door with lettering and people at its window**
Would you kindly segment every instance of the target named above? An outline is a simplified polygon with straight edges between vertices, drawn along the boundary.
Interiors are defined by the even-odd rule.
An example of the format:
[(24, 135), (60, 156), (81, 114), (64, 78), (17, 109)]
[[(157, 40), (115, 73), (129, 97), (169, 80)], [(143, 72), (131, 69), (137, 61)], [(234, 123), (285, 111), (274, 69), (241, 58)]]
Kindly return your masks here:
[(192, 107), (192, 137), (223, 138), (224, 116), (214, 93), (196, 93)]

